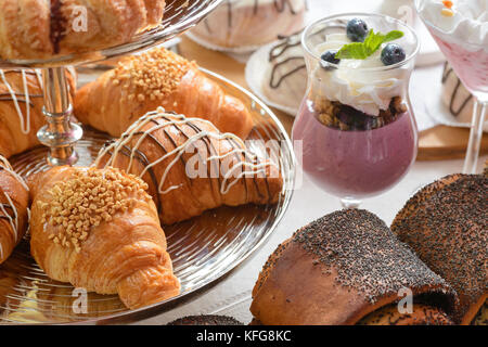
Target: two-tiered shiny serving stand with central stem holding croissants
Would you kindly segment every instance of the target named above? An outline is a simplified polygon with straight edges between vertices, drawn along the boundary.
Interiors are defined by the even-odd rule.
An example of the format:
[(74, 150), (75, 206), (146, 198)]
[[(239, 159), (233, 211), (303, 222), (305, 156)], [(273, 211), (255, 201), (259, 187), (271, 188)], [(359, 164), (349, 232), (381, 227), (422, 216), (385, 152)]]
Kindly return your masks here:
[[(134, 53), (163, 43), (194, 26), (221, 0), (167, 0), (159, 27), (137, 36), (131, 42), (97, 52), (77, 52), (47, 61), (0, 61), (0, 68), (41, 68), (44, 83), (47, 126), (38, 132), (46, 146), (12, 157), (13, 168), (22, 177), (56, 165), (90, 165), (100, 147), (110, 139), (105, 133), (85, 129), (70, 121), (66, 68)], [(291, 140), (274, 114), (255, 95), (211, 72), (203, 70), (231, 95), (248, 107), (255, 127), (251, 139), (277, 140), (267, 149), (278, 158), (284, 187), (278, 204), (221, 207), (190, 221), (165, 226), (168, 253), (181, 283), (175, 298), (138, 310), (128, 310), (116, 295), (88, 293), (88, 311), (74, 310), (74, 287), (48, 278), (30, 256), (26, 235), (12, 256), (0, 266), (0, 324), (134, 322), (159, 314), (224, 278), (247, 260), (271, 235), (282, 219), (292, 196), (295, 157)], [(262, 151), (254, 149), (257, 154)], [(261, 153), (264, 154), (264, 153)], [(268, 153), (270, 154), (270, 153)], [(48, 159), (46, 159), (48, 158)]]

